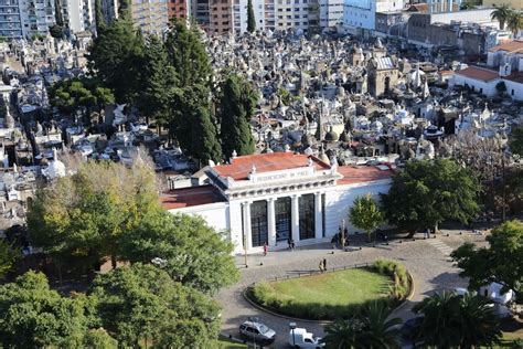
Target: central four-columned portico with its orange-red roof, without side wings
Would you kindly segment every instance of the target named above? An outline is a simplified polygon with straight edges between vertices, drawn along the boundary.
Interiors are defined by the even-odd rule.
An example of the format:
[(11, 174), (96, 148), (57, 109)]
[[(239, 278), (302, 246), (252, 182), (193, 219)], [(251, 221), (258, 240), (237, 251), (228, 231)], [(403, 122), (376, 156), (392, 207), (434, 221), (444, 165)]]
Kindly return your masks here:
[(210, 178), (230, 202), (231, 226), (241, 229), (243, 248), (252, 251), (324, 237), (325, 192), (341, 176), (337, 166), (289, 152), (233, 158), (211, 168)]

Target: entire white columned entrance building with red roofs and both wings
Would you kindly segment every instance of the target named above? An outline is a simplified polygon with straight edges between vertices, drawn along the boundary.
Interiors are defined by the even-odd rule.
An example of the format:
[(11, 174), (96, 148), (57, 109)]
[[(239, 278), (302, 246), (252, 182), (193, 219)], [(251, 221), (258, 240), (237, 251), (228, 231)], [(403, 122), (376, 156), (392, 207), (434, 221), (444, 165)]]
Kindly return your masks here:
[[(332, 161), (335, 163), (335, 160)], [(235, 157), (231, 163), (200, 171), (201, 186), (162, 197), (169, 212), (198, 214), (226, 231), (235, 253), (257, 253), (330, 241), (344, 224), (359, 195), (387, 192), (388, 166), (338, 167), (292, 152)]]

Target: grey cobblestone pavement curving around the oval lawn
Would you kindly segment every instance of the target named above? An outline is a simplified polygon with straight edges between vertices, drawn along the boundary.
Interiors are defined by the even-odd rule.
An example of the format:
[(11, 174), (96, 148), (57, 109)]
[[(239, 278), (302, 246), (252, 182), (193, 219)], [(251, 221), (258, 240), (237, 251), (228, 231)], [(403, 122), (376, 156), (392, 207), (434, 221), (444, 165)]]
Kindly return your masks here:
[[(449, 235), (449, 236), (447, 236)], [(459, 269), (452, 265), (449, 251), (460, 246), (463, 242), (485, 244), (485, 235), (476, 235), (470, 231), (441, 231), (436, 239), (423, 240), (419, 234), (416, 241), (391, 241), (388, 245), (377, 244), (375, 247), (364, 243), (362, 250), (354, 248), (349, 252), (335, 250), (332, 254), (330, 244), (318, 244), (297, 248), (296, 251), (275, 251), (267, 256), (253, 255), (247, 257), (248, 268), (245, 268), (244, 257), (236, 257), (238, 267), (242, 268), (242, 279), (231, 288), (223, 289), (217, 295), (217, 300), (223, 307), (222, 332), (238, 337), (238, 326), (249, 316), (258, 317), (276, 330), (278, 338), (270, 348), (286, 348), (289, 319), (273, 316), (253, 307), (242, 295), (242, 292), (254, 282), (267, 278), (284, 277), (296, 273), (317, 271), (319, 261), (327, 258), (328, 267), (343, 267), (354, 264), (372, 263), (378, 258), (396, 260), (405, 265), (414, 277), (415, 293), (412, 300), (395, 316), (408, 319), (413, 317), (410, 311), (414, 304), (425, 296), (442, 289), (462, 287), (467, 285), (466, 279), (459, 277)], [(263, 263), (263, 265), (260, 265)], [(300, 322), (298, 327), (305, 327), (317, 336), (323, 336), (323, 326), (318, 322)]]

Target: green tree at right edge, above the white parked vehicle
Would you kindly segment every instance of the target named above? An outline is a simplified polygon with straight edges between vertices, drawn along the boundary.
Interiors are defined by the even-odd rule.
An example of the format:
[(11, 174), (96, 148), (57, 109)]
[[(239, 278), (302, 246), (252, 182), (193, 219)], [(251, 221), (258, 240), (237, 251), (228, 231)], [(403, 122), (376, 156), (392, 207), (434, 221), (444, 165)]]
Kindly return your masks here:
[(461, 245), (451, 256), (462, 268), (461, 276), (469, 278), (469, 287), (478, 289), (493, 282), (513, 289), (523, 290), (523, 223), (505, 222), (487, 236), (489, 247), (476, 248), (471, 243)]

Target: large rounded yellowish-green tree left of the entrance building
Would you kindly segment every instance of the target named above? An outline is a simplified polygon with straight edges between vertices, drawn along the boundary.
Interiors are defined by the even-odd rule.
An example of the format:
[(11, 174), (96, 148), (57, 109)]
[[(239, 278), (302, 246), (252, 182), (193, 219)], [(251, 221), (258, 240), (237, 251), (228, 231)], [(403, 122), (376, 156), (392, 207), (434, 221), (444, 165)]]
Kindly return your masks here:
[(159, 209), (154, 173), (139, 161), (81, 165), (38, 192), (28, 213), (32, 243), (60, 261), (89, 269), (120, 255), (119, 239)]

